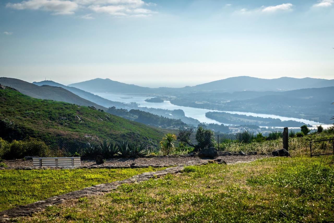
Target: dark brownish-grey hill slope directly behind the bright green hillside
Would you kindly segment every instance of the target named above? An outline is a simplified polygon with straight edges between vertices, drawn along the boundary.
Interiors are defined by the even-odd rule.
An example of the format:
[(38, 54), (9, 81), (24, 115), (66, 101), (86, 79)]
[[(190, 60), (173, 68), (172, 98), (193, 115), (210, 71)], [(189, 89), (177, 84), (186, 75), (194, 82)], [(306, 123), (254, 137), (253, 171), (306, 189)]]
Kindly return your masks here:
[(0, 77), (0, 84), (15, 88), (22, 94), (38, 99), (49, 99), (54, 101), (64, 101), (72, 104), (95, 106), (100, 109), (107, 109), (92, 101), (79, 97), (76, 94), (62, 88), (49, 85), (38, 86), (15, 78)]

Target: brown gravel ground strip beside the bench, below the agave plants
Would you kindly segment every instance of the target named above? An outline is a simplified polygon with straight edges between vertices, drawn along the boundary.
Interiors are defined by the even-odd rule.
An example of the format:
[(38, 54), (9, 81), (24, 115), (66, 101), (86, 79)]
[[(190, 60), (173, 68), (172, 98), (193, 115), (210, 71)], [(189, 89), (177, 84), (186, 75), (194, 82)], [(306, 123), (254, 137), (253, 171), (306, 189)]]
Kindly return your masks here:
[[(237, 163), (237, 162), (247, 162), (254, 161), (257, 159), (262, 159), (270, 157), (271, 155), (247, 155), (247, 156), (219, 156), (219, 158), (226, 161), (227, 164)], [(185, 164), (191, 160), (198, 160), (197, 156), (155, 156), (155, 157), (141, 157), (141, 158), (113, 158), (107, 159), (103, 165), (113, 165), (119, 167), (128, 167), (129, 165), (165, 165), (165, 166), (176, 166)], [(32, 160), (3, 160), (8, 167), (32, 167)], [(81, 166), (94, 166), (96, 165), (93, 159), (82, 159)]]

